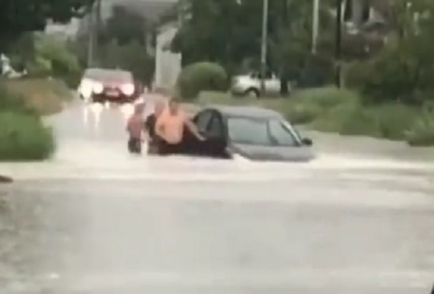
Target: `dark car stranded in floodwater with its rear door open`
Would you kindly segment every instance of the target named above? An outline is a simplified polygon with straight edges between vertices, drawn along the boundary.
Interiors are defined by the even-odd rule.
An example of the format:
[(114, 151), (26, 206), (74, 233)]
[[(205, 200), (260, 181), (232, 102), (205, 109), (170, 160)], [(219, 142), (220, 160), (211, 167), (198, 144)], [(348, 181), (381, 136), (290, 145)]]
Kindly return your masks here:
[(282, 115), (272, 110), (210, 106), (193, 121), (207, 140), (195, 142), (188, 138), (191, 155), (232, 158), (239, 154), (251, 160), (303, 162), (315, 158), (312, 141), (302, 138)]

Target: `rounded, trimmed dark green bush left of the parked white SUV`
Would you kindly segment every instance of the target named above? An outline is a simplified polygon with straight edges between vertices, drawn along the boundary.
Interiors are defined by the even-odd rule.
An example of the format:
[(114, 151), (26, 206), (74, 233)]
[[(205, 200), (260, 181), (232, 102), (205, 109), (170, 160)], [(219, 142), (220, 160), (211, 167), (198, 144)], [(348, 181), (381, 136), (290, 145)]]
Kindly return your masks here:
[(216, 63), (198, 62), (183, 68), (178, 76), (177, 91), (183, 99), (196, 99), (201, 91), (226, 91), (228, 76)]

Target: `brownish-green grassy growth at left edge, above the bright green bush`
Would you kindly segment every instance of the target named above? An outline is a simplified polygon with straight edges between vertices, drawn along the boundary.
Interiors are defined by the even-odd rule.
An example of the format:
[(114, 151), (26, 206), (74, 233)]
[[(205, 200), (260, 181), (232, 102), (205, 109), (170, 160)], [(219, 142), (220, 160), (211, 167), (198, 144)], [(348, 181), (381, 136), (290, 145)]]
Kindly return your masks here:
[(55, 114), (73, 99), (66, 84), (54, 79), (11, 79), (3, 80), (2, 85), (10, 95), (20, 97), (40, 115)]

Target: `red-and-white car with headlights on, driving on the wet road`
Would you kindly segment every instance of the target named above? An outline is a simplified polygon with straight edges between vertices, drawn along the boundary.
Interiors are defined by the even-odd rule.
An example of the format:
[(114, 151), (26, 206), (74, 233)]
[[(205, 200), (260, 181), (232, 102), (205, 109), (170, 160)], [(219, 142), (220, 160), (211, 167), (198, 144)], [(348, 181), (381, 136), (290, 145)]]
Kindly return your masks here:
[(131, 103), (138, 99), (142, 87), (129, 71), (120, 69), (88, 68), (79, 89), (80, 97), (88, 102)]

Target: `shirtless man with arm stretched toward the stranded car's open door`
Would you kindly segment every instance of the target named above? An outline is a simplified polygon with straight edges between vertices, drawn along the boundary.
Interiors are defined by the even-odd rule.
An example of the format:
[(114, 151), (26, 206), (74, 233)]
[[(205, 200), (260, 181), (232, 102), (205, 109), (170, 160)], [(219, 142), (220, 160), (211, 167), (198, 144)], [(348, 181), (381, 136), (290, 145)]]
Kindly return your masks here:
[(180, 108), (178, 99), (172, 98), (167, 108), (158, 116), (155, 124), (155, 133), (161, 139), (160, 154), (183, 153), (185, 128), (200, 141), (205, 140), (187, 114)]

